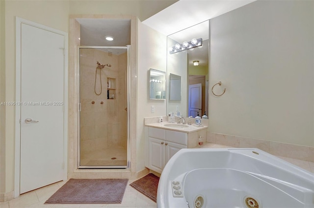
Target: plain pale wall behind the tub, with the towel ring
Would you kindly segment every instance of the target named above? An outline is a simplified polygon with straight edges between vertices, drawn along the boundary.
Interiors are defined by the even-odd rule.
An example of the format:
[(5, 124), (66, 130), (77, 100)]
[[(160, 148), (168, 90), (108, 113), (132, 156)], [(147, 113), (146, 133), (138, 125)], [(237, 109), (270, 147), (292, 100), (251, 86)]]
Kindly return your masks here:
[(314, 146), (313, 4), (255, 1), (210, 20), (210, 86), (227, 88), (210, 93), (211, 132)]

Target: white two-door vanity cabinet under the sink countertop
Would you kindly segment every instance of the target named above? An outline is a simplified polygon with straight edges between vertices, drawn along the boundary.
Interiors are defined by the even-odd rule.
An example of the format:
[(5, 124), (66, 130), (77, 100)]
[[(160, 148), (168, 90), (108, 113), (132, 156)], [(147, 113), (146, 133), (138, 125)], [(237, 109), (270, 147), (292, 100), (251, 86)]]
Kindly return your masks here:
[(168, 160), (187, 148), (187, 133), (148, 127), (145, 166), (161, 173)]

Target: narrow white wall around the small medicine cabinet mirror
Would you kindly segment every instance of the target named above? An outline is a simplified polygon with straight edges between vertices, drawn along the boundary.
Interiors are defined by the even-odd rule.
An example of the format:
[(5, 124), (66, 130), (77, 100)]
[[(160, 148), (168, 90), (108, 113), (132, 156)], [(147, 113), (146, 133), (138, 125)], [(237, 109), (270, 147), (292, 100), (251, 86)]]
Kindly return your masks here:
[[(149, 26), (138, 21), (138, 52), (137, 52), (137, 142), (136, 165), (137, 171), (144, 166), (144, 118), (165, 116), (165, 100), (149, 100), (149, 69), (166, 72), (167, 37)], [(168, 95), (167, 95), (168, 96)], [(155, 106), (155, 113), (151, 112)]]

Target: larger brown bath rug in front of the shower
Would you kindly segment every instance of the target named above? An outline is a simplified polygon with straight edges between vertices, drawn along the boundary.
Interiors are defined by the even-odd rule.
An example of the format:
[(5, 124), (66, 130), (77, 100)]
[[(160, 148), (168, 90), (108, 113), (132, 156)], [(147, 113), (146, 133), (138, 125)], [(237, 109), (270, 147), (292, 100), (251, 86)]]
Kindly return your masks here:
[(121, 204), (128, 179), (70, 179), (45, 204)]

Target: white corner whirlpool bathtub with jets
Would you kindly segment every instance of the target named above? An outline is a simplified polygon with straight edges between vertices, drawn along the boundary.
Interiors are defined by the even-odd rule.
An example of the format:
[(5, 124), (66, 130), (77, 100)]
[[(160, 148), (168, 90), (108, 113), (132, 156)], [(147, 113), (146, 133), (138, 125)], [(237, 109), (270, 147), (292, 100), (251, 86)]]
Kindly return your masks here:
[(157, 208), (314, 208), (314, 174), (259, 149), (182, 149), (165, 165)]

